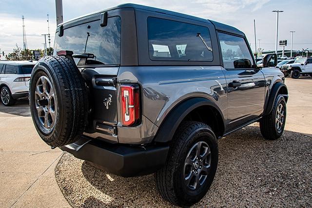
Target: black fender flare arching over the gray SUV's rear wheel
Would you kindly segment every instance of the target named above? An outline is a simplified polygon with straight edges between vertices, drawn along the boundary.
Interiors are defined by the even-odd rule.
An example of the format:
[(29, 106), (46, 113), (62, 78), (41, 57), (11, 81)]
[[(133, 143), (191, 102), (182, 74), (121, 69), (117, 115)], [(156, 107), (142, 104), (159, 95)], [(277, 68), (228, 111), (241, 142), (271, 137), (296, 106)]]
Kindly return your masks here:
[(187, 114), (192, 112), (195, 108), (200, 106), (211, 106), (214, 107), (218, 113), (222, 116), (223, 130), (225, 129), (224, 117), (219, 109), (219, 107), (211, 100), (204, 97), (194, 97), (184, 100), (176, 105), (176, 107), (170, 111), (170, 113), (165, 117), (164, 121), (161, 123), (156, 136), (154, 137), (154, 142), (169, 142), (173, 138), (176, 129), (185, 118)]

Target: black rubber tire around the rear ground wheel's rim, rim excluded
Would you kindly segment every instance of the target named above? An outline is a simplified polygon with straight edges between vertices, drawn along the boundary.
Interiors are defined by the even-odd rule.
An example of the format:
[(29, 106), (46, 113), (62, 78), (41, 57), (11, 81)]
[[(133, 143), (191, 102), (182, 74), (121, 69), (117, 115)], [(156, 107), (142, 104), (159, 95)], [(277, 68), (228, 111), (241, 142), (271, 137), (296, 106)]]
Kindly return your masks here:
[[(185, 184), (185, 171), (187, 171), (186, 168), (195, 169), (195, 163), (191, 167), (185, 167), (186, 158), (191, 155), (189, 151), (192, 150), (192, 147), (199, 142), (208, 144), (210, 148), (210, 169), (207, 171), (207, 177), (205, 177), (203, 184), (199, 187), (195, 185), (196, 188), (191, 189)], [(200, 161), (200, 157), (199, 159), (195, 158), (194, 161)], [(154, 175), (156, 188), (165, 200), (182, 207), (191, 206), (206, 195), (214, 180), (217, 164), (218, 144), (212, 129), (200, 122), (183, 122), (174, 135), (165, 166)], [(199, 166), (200, 169), (202, 167), (204, 167), (203, 164)], [(192, 175), (191, 169), (188, 172)], [(198, 170), (198, 174), (202, 173), (200, 169), (195, 169)], [(196, 175), (191, 177), (196, 177)], [(193, 179), (191, 178), (191, 180)]]

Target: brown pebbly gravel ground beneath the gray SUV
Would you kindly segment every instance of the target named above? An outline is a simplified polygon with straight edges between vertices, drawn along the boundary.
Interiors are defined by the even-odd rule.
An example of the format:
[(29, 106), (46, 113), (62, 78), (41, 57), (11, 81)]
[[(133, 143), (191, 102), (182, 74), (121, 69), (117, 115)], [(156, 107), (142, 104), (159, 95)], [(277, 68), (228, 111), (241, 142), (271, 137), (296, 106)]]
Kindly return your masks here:
[[(312, 138), (285, 131), (266, 141), (255, 125), (219, 140), (219, 164), (194, 207), (312, 207)], [(56, 179), (73, 207), (171, 207), (153, 175), (122, 178), (65, 153)]]

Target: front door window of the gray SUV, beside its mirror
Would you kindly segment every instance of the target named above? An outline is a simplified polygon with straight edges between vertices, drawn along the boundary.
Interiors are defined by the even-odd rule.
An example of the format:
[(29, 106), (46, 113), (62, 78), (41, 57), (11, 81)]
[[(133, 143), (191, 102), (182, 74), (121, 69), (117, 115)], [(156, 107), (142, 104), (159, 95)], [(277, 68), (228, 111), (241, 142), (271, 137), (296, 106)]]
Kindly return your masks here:
[(218, 33), (225, 69), (254, 68), (253, 57), (244, 38)]

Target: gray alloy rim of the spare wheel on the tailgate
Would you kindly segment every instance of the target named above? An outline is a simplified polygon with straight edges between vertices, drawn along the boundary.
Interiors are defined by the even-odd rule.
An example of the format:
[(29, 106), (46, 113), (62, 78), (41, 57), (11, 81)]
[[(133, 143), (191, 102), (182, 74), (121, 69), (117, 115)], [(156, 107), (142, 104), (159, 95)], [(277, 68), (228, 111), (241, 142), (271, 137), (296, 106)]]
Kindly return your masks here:
[(57, 99), (47, 76), (40, 76), (36, 84), (35, 106), (41, 127), (51, 132), (56, 124)]

